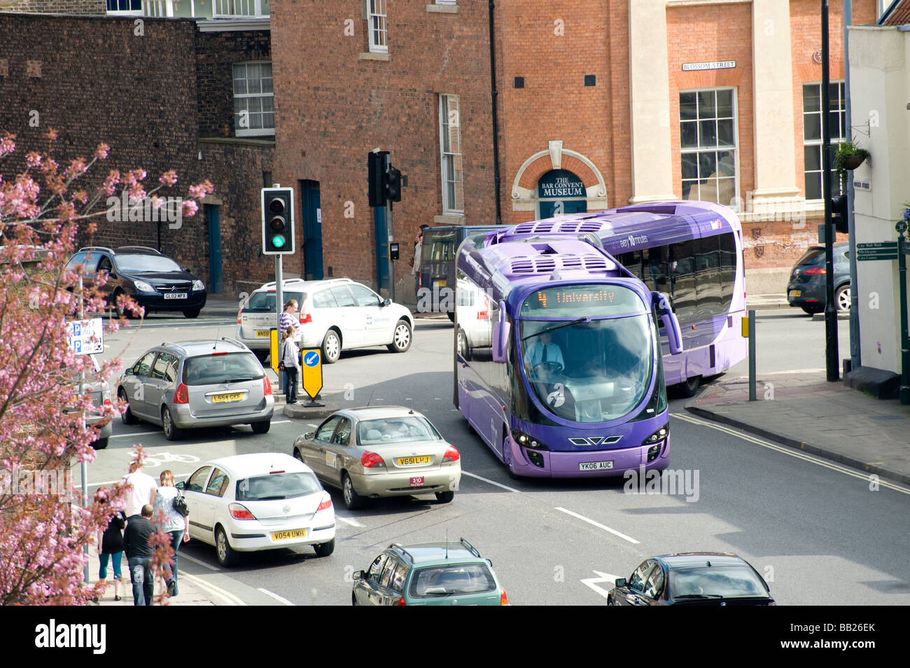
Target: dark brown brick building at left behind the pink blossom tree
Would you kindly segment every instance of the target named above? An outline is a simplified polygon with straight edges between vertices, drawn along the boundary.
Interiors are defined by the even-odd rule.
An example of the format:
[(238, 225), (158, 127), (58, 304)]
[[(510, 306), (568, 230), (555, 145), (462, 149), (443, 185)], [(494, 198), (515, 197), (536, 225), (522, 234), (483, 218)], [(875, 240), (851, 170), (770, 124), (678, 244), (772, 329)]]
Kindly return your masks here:
[[(22, 169), (28, 151), (44, 149), (53, 127), (58, 162), (90, 157), (99, 142), (111, 147), (88, 186), (108, 169), (142, 167), (151, 189), (173, 168), (177, 186), (159, 195), (181, 197), (209, 179), (214, 194), (179, 228), (102, 217), (80, 243), (160, 248), (209, 291), (236, 295), (274, 275), (273, 260), (261, 256), (259, 224), (259, 188), (271, 184), (275, 144), (271, 48), (268, 14), (213, 17), (219, 4), (197, 16), (188, 2), (0, 7), (0, 130), (16, 135), (5, 175)], [(149, 15), (167, 16), (168, 5), (181, 11)]]

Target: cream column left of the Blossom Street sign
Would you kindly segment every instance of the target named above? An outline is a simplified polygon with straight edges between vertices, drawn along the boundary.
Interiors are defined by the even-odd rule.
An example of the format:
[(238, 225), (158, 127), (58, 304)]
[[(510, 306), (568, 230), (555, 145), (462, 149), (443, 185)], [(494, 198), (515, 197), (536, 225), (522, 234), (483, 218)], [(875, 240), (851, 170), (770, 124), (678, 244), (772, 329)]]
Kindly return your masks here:
[(665, 0), (629, 0), (632, 203), (677, 198), (668, 68)]

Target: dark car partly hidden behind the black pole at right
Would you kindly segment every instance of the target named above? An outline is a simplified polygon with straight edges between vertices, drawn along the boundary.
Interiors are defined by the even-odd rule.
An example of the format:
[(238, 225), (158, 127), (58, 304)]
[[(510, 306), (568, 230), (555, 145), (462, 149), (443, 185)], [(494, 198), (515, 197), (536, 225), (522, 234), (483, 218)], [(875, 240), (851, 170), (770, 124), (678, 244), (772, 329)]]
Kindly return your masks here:
[[(850, 244), (834, 244), (834, 305), (838, 311), (850, 310)], [(824, 295), (824, 246), (810, 246), (796, 260), (787, 283), (787, 302), (806, 313), (821, 313), (827, 300)]]

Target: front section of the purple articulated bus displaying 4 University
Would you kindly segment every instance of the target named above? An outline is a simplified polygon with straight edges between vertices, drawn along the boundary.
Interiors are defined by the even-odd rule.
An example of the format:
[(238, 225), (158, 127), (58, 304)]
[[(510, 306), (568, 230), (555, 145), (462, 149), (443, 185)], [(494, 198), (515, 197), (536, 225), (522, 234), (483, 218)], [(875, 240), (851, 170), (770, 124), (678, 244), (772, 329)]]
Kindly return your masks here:
[(460, 246), (455, 406), (517, 475), (665, 469), (659, 320), (672, 352), (682, 351), (669, 300), (596, 235), (580, 235), (580, 224), (546, 236), (526, 229), (534, 225), (480, 233)]

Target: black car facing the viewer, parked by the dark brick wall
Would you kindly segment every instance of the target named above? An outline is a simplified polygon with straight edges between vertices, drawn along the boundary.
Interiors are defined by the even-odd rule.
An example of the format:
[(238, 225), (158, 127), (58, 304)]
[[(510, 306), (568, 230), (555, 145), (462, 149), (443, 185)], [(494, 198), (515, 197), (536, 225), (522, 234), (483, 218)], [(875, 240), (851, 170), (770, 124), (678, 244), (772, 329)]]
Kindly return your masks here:
[(121, 294), (135, 299), (147, 313), (183, 311), (187, 318), (196, 318), (206, 305), (207, 292), (202, 281), (155, 248), (79, 248), (79, 252), (66, 262), (66, 268), (75, 270), (78, 265), (85, 267), (86, 281), (94, 280), (98, 274), (107, 274), (107, 282), (101, 289), (117, 315), (131, 316), (129, 311), (124, 312), (116, 306), (116, 299)]

